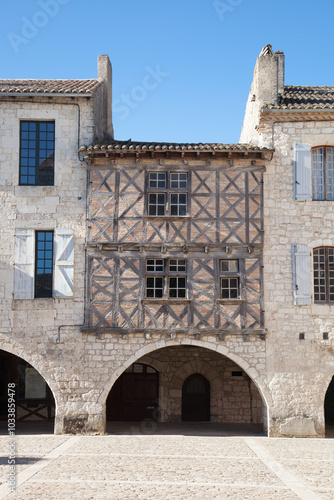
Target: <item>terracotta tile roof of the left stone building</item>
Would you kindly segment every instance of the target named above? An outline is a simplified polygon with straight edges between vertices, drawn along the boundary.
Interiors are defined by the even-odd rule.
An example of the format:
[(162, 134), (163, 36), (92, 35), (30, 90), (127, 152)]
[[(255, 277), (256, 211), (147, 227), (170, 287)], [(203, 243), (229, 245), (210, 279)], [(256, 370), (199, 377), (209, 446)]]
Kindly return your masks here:
[(0, 80), (0, 95), (13, 94), (92, 94), (98, 80)]

